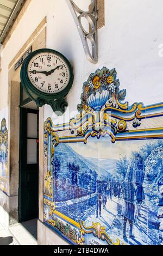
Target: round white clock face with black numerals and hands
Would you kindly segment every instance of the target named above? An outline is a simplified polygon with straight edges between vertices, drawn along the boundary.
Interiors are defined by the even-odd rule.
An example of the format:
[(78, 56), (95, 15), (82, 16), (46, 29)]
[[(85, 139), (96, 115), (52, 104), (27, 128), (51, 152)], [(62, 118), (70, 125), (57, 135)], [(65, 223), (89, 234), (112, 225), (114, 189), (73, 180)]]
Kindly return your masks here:
[(55, 94), (64, 90), (70, 80), (70, 70), (57, 53), (40, 52), (28, 63), (28, 77), (42, 93)]

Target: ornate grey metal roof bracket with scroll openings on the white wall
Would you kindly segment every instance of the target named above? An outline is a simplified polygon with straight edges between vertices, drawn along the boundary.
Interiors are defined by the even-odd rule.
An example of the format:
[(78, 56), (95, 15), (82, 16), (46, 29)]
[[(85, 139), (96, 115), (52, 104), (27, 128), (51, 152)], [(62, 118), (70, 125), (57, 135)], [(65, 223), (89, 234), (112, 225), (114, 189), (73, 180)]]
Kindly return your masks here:
[[(81, 10), (73, 0), (66, 0), (66, 2), (78, 28), (87, 59), (92, 63), (97, 63), (97, 0), (92, 0), (89, 11)], [(82, 26), (82, 18), (89, 22), (89, 32)], [(92, 51), (90, 51), (88, 41), (91, 43)]]

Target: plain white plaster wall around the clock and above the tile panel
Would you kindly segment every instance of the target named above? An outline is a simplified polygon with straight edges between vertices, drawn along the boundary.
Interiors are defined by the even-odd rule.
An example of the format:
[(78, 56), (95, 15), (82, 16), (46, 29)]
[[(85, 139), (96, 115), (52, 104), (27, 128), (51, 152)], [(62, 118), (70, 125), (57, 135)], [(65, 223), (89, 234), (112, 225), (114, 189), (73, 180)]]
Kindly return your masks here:
[[(78, 0), (86, 9), (87, 0)], [(45, 119), (68, 121), (80, 103), (83, 82), (97, 68), (116, 68), (120, 88), (127, 89), (129, 104), (145, 105), (162, 101), (163, 44), (162, 0), (105, 0), (105, 26), (98, 31), (98, 63), (90, 63), (65, 0), (32, 0), (20, 23), (2, 50), (0, 110), (8, 105), (8, 65), (35, 28), (47, 16), (47, 47), (64, 54), (74, 67), (74, 84), (67, 96), (65, 115), (56, 118), (45, 107)], [(163, 54), (162, 54), (163, 55)]]

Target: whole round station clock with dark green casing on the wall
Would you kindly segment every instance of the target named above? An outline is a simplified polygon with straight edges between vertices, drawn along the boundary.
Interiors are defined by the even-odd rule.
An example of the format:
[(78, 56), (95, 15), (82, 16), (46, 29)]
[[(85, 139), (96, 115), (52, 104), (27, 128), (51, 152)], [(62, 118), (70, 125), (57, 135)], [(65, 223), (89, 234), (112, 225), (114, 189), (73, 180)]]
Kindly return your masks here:
[(60, 52), (43, 48), (29, 54), (21, 68), (21, 86), (41, 107), (48, 104), (61, 115), (65, 112), (73, 83), (73, 68)]

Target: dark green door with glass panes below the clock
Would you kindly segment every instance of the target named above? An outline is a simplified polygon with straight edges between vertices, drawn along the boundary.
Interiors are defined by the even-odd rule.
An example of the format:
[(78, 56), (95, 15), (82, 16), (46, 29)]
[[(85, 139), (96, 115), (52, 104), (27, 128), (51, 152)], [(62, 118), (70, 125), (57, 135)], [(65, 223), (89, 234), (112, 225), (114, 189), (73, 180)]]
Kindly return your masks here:
[(19, 221), (39, 212), (39, 111), (20, 108)]

